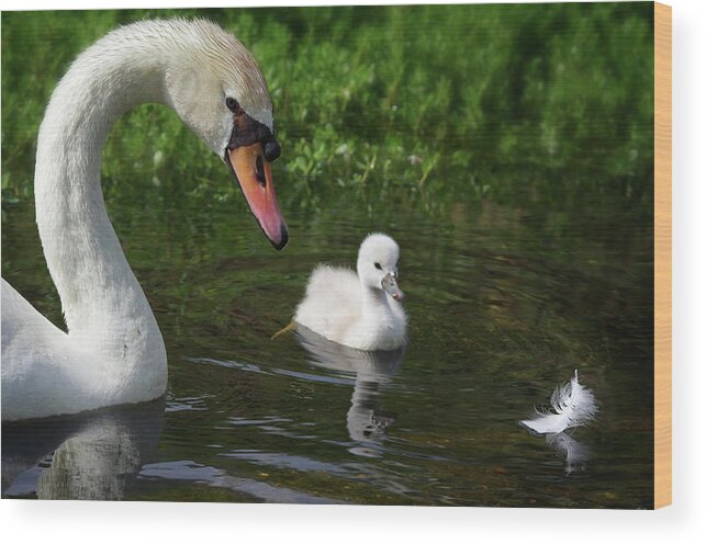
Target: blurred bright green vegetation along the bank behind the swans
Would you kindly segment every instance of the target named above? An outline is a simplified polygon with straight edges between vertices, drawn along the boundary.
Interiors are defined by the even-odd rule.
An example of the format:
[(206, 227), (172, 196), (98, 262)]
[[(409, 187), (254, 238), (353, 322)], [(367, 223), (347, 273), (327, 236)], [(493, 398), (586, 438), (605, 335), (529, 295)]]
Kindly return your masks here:
[[(2, 14), (2, 197), (32, 194), (34, 143), (72, 58), (117, 24), (205, 16), (255, 54), (270, 86), (287, 207), (341, 189), (426, 208), (452, 200), (651, 215), (651, 3), (344, 7)], [(228, 197), (223, 166), (167, 109), (109, 138), (110, 191), (142, 175)], [(121, 189), (122, 190), (122, 189)]]

